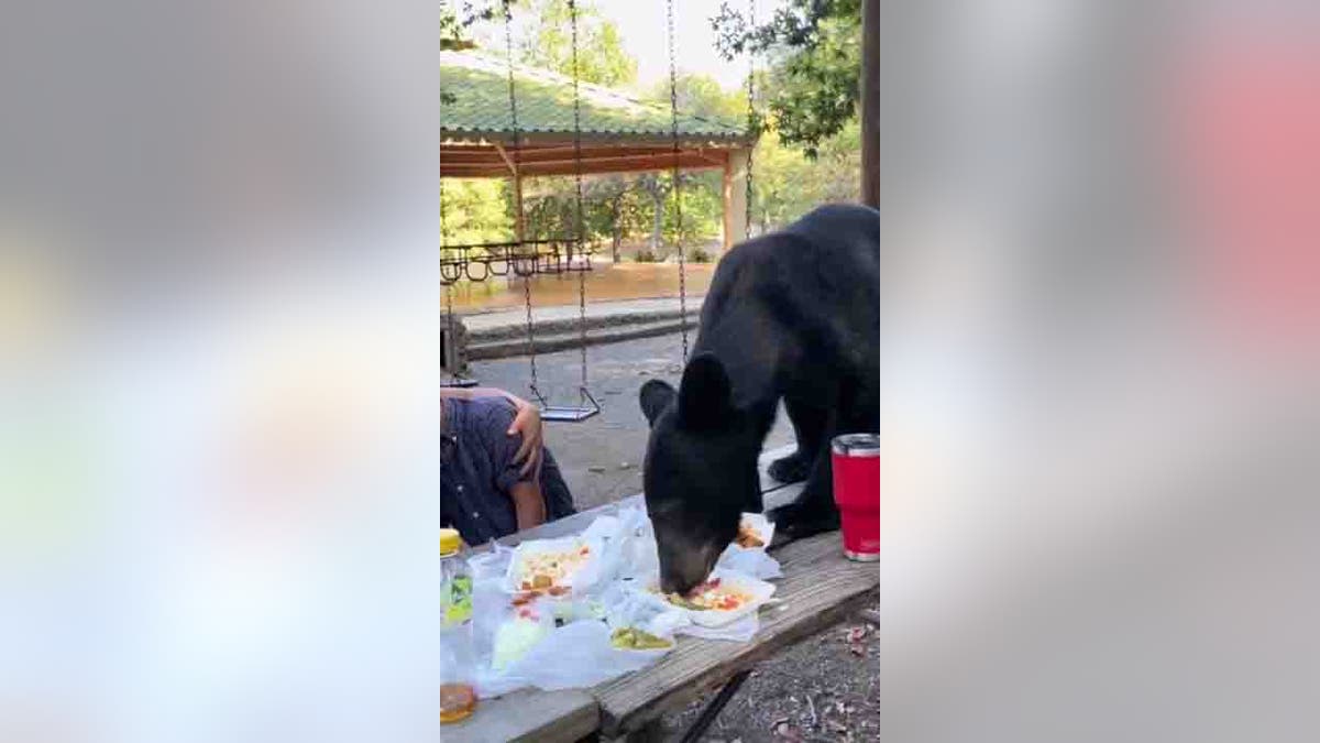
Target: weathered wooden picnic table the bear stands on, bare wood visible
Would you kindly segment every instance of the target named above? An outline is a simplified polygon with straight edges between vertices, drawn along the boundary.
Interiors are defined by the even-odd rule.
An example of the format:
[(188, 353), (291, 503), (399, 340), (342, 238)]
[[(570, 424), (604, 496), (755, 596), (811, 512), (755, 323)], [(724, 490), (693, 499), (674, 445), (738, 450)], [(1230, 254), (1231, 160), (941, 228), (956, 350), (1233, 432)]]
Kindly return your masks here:
[[(766, 475), (771, 461), (792, 451), (793, 447), (788, 446), (760, 456), (762, 490), (767, 509), (789, 502), (801, 492), (801, 483), (783, 485)], [(636, 494), (511, 534), (500, 542), (512, 546), (527, 539), (577, 534), (599, 516), (642, 502), (642, 496)], [(742, 674), (760, 660), (842, 621), (880, 583), (880, 572), (874, 563), (857, 563), (843, 558), (837, 533), (788, 543), (781, 543), (776, 537), (770, 549), (784, 572), (775, 582), (775, 598), (779, 603), (760, 611), (760, 629), (751, 641), (729, 643), (685, 636), (653, 665), (591, 689), (524, 689), (484, 699), (471, 718), (442, 726), (441, 740), (573, 743), (593, 734), (599, 734), (603, 739), (644, 735), (648, 726), (665, 711), (688, 703), (704, 691), (723, 686), (735, 677), (735, 682), (741, 682)]]

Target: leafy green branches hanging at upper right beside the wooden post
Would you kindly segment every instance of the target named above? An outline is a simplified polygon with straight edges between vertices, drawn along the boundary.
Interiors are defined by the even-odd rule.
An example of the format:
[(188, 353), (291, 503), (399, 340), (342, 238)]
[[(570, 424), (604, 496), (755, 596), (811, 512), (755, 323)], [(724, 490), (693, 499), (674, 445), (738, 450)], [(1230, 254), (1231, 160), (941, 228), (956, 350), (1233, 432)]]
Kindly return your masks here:
[(726, 59), (767, 54), (768, 110), (779, 139), (809, 159), (857, 115), (862, 65), (861, 0), (788, 0), (770, 22), (751, 25), (729, 3), (710, 20)]

